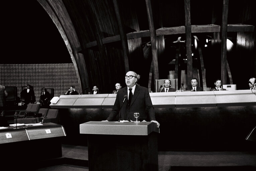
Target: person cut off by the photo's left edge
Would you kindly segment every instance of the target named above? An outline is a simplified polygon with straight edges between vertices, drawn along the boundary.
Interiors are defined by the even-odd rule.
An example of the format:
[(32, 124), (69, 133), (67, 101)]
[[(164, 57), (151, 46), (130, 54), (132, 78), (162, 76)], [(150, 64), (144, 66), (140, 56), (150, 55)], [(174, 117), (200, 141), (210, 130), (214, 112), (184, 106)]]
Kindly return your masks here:
[(7, 121), (4, 117), (5, 112), (5, 98), (8, 96), (8, 93), (5, 90), (3, 85), (0, 85), (0, 126), (6, 126)]

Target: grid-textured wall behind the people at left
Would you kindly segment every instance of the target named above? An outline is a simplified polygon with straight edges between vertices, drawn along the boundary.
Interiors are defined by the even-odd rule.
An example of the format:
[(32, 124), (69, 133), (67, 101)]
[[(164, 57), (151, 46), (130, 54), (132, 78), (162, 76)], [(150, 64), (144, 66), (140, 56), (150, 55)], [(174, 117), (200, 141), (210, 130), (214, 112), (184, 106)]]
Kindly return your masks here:
[(0, 64), (0, 85), (16, 86), (20, 96), (21, 87), (27, 84), (34, 87), (36, 102), (42, 87), (53, 88), (54, 96), (58, 97), (65, 94), (71, 85), (78, 89), (73, 63)]

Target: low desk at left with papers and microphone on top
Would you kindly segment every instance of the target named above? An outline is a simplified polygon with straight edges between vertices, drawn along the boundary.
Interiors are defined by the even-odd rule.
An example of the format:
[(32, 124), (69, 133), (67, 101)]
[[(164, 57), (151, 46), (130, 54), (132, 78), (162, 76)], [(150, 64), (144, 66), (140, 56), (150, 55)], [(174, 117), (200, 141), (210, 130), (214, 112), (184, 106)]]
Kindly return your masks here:
[(10, 170), (24, 166), (33, 169), (40, 160), (62, 157), (61, 140), (65, 136), (64, 127), (54, 123), (0, 129), (2, 162)]

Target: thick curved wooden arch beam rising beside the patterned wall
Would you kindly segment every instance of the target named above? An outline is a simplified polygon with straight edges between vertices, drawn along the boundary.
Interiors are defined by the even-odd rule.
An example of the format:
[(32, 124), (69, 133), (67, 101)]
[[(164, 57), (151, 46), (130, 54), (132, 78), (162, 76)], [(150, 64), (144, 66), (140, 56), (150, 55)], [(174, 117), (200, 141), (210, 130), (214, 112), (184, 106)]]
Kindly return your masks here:
[(79, 88), (78, 92), (83, 93), (89, 88), (88, 73), (84, 61), (84, 56), (77, 52), (77, 49), (81, 49), (80, 43), (74, 26), (71, 22), (70, 16), (62, 1), (57, 0), (37, 0), (39, 4), (46, 10), (48, 15), (53, 20), (54, 24), (58, 28), (70, 54), (72, 62), (74, 64), (75, 72), (78, 78)]

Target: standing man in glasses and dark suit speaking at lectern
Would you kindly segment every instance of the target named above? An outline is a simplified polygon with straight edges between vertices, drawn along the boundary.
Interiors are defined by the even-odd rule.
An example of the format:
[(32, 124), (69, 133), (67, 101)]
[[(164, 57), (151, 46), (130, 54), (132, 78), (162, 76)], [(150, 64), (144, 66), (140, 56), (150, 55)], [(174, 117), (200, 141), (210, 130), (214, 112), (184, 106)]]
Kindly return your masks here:
[[(134, 71), (129, 71), (124, 78), (127, 87), (117, 92), (114, 106), (106, 121), (114, 121), (116, 117), (119, 117), (119, 112), (119, 120), (136, 121), (134, 113), (138, 112), (140, 114), (139, 121), (154, 122), (159, 128), (160, 124), (156, 121), (149, 91), (138, 85), (140, 75)], [(124, 99), (124, 96), (128, 97), (128, 100)]]

